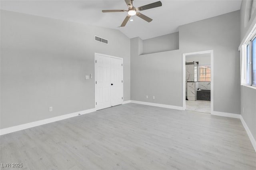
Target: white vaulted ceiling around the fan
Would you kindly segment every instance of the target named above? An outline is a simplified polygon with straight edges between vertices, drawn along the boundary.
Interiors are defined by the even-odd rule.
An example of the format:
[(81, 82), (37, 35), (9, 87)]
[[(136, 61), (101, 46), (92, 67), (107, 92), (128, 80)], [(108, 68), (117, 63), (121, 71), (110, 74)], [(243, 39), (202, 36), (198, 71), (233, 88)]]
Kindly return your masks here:
[[(158, 0), (134, 0), (135, 7)], [(178, 31), (178, 26), (240, 9), (241, 0), (161, 0), (162, 6), (141, 13), (152, 18), (148, 23), (138, 16), (120, 27), (127, 12), (102, 13), (101, 10), (127, 10), (124, 0), (1, 0), (0, 8), (88, 25), (114, 28), (129, 38), (142, 40)]]

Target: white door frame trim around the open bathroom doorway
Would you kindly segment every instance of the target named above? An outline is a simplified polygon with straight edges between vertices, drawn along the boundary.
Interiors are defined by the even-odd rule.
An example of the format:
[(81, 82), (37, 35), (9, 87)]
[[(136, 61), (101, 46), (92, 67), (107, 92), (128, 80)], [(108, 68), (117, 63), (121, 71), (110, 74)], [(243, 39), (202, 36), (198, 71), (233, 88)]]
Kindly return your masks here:
[(191, 53), (183, 53), (182, 54), (182, 109), (186, 109), (186, 55), (193, 55), (193, 54), (205, 54), (210, 53), (211, 57), (211, 114), (213, 114), (213, 102), (214, 102), (214, 93), (213, 93), (213, 73), (214, 73), (214, 65), (213, 65), (213, 50), (207, 51), (197, 51)]

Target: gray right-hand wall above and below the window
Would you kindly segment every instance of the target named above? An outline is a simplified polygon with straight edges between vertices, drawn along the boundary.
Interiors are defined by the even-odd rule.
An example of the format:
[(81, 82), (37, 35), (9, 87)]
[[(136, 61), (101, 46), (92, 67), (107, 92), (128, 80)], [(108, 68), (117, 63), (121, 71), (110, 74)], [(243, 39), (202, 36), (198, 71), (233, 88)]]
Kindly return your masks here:
[[(250, 21), (245, 16), (249, 9), (246, 6), (248, 1), (242, 1), (241, 4), (241, 43), (248, 36), (252, 27), (256, 24), (256, 12)], [(246, 25), (244, 23), (247, 23)], [(241, 115), (250, 129), (254, 139), (256, 139), (256, 90), (250, 87), (241, 86)]]

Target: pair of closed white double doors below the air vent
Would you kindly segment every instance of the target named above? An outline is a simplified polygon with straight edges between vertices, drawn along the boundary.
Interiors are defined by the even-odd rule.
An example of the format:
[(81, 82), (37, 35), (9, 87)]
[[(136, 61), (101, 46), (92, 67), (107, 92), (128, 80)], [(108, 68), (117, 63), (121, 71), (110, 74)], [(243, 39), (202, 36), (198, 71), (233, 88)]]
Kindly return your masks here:
[(123, 64), (121, 58), (95, 55), (96, 110), (120, 105), (123, 102)]

